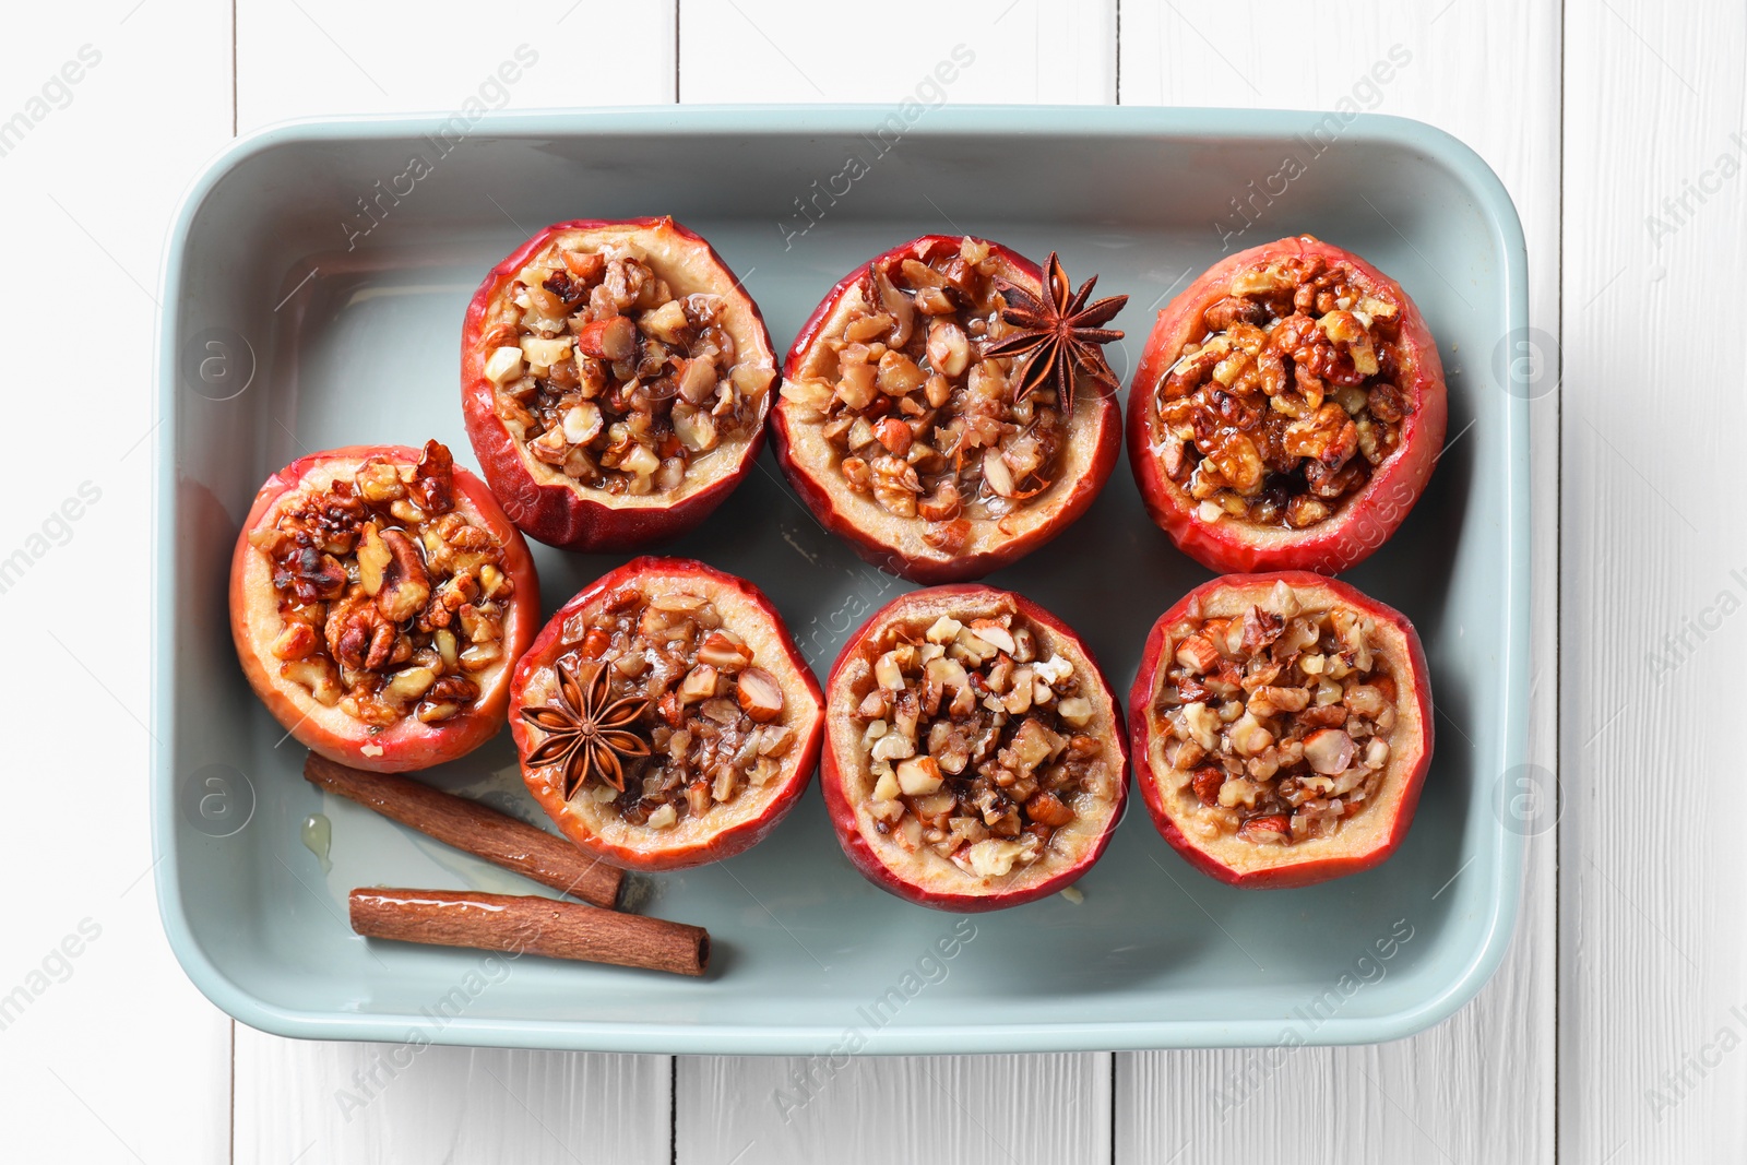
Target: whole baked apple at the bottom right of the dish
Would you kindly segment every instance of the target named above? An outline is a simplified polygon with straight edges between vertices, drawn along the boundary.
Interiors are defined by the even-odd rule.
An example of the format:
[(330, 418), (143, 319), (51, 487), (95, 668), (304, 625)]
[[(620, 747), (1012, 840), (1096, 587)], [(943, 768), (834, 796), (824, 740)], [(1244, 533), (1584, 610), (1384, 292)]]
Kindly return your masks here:
[(1153, 824), (1232, 886), (1370, 870), (1431, 767), (1413, 625), (1309, 571), (1214, 578), (1160, 615), (1129, 716)]

